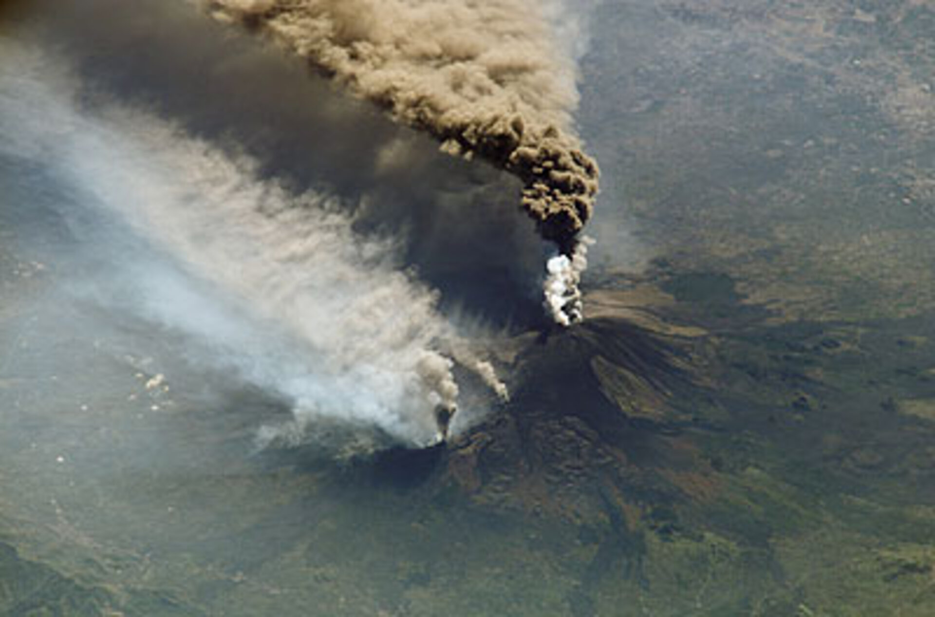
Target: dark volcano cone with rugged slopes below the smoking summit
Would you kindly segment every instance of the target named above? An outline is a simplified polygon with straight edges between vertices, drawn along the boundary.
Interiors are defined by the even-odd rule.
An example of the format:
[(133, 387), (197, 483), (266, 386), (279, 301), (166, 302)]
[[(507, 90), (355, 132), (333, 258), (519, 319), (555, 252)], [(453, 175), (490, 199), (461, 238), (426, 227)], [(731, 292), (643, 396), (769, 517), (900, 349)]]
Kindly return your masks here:
[(378, 456), (378, 481), (578, 521), (606, 516), (608, 499), (683, 495), (668, 474), (698, 461), (674, 401), (698, 387), (701, 341), (602, 317), (514, 342), (510, 403), (447, 447)]

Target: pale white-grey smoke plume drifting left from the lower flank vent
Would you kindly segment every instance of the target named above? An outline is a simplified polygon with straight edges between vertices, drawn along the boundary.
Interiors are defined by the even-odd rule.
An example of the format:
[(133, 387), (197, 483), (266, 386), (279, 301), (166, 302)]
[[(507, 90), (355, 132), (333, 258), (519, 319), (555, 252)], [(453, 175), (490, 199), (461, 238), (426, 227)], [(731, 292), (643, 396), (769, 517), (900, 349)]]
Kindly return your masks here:
[(360, 237), (334, 199), (257, 179), (250, 160), (144, 111), (84, 113), (68, 87), (49, 85), (48, 60), (0, 50), (11, 60), (0, 66), (0, 148), (53, 166), (187, 271), (179, 280), (127, 254), (139, 276), (126, 293), (139, 297), (123, 302), (291, 399), (295, 423), (261, 438), (290, 440), (320, 419), (411, 445), (445, 437), (437, 416), (456, 409), (458, 386), (441, 350), (457, 337), (437, 294), (398, 270), (392, 241)]

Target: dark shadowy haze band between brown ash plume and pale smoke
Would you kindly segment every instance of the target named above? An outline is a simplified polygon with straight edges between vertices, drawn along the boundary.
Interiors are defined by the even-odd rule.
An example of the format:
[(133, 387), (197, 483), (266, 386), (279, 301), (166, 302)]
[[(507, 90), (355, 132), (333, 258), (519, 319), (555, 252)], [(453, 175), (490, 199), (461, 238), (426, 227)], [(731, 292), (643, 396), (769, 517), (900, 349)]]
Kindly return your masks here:
[(262, 178), (337, 194), (358, 231), (400, 239), (403, 265), (439, 291), (445, 312), (496, 328), (542, 323), (543, 258), (555, 251), (516, 207), (522, 183), (510, 173), (440, 152), (423, 131), (186, 2), (28, 4), (46, 44), (75, 66), (83, 104), (104, 93), (151, 108), (248, 153)]

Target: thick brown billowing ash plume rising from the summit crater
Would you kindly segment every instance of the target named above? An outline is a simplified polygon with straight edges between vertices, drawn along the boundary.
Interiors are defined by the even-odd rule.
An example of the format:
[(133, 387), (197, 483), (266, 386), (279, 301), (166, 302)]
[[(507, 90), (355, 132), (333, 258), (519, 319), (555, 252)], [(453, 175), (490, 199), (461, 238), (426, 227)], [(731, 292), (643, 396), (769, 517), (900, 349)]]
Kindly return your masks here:
[[(598, 171), (572, 131), (573, 67), (556, 52), (535, 3), (210, 0), (209, 7), (436, 136), (444, 151), (509, 170), (523, 182), (522, 204), (539, 233), (575, 260)], [(553, 299), (547, 306), (560, 323), (580, 317), (575, 302), (568, 311)]]

